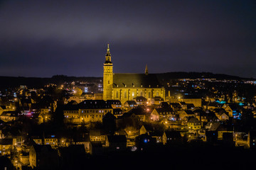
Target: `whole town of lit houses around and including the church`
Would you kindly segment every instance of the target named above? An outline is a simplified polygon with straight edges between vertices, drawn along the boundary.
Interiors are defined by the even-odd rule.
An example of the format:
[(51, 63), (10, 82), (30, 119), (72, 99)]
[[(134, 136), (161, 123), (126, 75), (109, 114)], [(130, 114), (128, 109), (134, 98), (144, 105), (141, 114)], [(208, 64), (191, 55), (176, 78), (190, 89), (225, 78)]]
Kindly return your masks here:
[(115, 73), (112, 60), (108, 45), (102, 77), (2, 86), (0, 168), (250, 167), (255, 79)]

